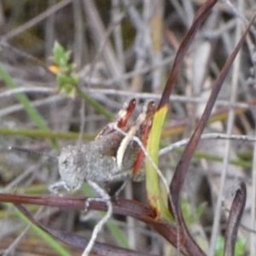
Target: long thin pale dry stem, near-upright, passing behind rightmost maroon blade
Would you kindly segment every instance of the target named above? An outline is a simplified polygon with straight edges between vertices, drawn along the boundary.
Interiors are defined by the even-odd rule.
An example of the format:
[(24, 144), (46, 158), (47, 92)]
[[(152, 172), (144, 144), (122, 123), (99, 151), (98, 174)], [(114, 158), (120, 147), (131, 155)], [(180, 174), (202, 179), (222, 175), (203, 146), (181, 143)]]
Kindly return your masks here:
[[(236, 44), (239, 42), (241, 38), (241, 22), (237, 19), (237, 26), (236, 26)], [(235, 44), (235, 45), (236, 45)], [(238, 87), (238, 75), (240, 72), (240, 64), (241, 64), (241, 52), (239, 51), (236, 55), (236, 59), (234, 61), (234, 68), (233, 68), (233, 76), (232, 76), (232, 86), (230, 88), (230, 103), (234, 104), (236, 102), (236, 91)], [(230, 109), (229, 117), (228, 117), (228, 124), (227, 124), (227, 135), (231, 136), (233, 126), (235, 120), (235, 110), (233, 108)], [(214, 212), (214, 219), (213, 219), (213, 226), (212, 226), (212, 236), (210, 241), (210, 249), (209, 249), (209, 256), (213, 256), (215, 253), (215, 246), (218, 236), (218, 226), (219, 220), (221, 215), (221, 206), (223, 201), (223, 194), (224, 194), (224, 184), (228, 172), (229, 162), (230, 162), (230, 140), (226, 142), (225, 149), (224, 149), (224, 168), (220, 178), (220, 188), (218, 194), (218, 201)]]

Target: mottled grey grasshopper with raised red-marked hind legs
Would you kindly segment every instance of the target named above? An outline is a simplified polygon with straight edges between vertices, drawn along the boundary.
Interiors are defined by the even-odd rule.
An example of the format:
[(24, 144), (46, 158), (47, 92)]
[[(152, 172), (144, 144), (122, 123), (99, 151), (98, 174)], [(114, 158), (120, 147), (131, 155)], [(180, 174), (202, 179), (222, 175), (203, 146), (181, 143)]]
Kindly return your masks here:
[[(58, 158), (61, 182), (53, 184), (50, 189), (55, 190), (62, 186), (67, 190), (76, 190), (88, 181), (102, 184), (131, 178), (141, 150), (133, 137), (142, 139), (144, 132), (149, 131), (154, 116), (154, 102), (148, 102), (135, 124), (127, 126), (127, 116), (131, 116), (134, 106), (135, 100), (131, 100), (128, 106), (125, 105), (96, 140), (61, 148)], [(119, 127), (122, 126), (119, 124), (124, 127)]]

